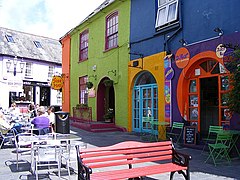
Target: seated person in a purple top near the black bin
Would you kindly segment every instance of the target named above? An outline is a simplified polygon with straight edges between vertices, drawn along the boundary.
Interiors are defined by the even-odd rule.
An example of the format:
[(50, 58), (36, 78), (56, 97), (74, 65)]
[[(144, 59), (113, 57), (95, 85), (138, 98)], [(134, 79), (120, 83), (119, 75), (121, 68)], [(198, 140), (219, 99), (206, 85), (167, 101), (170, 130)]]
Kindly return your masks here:
[(50, 120), (48, 117), (45, 115), (45, 108), (43, 106), (40, 106), (37, 109), (38, 116), (35, 117), (32, 121), (31, 124), (34, 125), (34, 128), (38, 129), (38, 132), (34, 131), (34, 134), (47, 134), (50, 132)]

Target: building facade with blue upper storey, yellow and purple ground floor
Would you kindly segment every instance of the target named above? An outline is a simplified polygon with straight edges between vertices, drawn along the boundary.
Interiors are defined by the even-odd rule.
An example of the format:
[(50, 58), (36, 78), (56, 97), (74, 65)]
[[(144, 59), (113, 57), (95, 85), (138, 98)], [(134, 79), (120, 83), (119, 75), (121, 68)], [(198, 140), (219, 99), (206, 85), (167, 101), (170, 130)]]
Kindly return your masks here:
[(239, 5), (237, 0), (131, 1), (132, 131), (143, 131), (146, 116), (196, 126), (201, 136), (209, 125), (240, 128), (226, 105), (225, 67), (231, 55), (226, 45), (240, 42)]

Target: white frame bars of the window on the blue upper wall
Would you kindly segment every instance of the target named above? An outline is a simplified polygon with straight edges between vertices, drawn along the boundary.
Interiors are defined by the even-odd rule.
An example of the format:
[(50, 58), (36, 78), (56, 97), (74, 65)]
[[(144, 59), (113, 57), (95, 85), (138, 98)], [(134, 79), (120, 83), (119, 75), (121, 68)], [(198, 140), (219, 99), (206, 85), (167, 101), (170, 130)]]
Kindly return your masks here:
[[(173, 21), (177, 20), (178, 17), (178, 2), (179, 0), (165, 0), (165, 3), (162, 3), (162, 5), (160, 5), (161, 0), (158, 0), (158, 10), (157, 10), (157, 17), (156, 17), (156, 24), (155, 24), (155, 28), (164, 26), (168, 23), (171, 23)], [(168, 20), (168, 15), (169, 15), (169, 7), (172, 4), (176, 3), (176, 9), (175, 9), (175, 13), (174, 13), (174, 18), (171, 20)], [(164, 17), (160, 17), (160, 12), (161, 10), (166, 9), (165, 13), (164, 13)], [(160, 19), (164, 18), (163, 23), (160, 24)]]

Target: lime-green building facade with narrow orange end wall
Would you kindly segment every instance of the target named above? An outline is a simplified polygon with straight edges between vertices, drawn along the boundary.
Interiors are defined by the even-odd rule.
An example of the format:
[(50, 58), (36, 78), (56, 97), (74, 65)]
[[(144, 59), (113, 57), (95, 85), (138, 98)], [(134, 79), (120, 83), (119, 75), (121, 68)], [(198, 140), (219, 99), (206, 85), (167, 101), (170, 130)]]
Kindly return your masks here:
[(106, 0), (60, 39), (69, 66), (63, 101), (71, 114), (87, 106), (93, 121), (128, 127), (129, 16), (130, 0)]

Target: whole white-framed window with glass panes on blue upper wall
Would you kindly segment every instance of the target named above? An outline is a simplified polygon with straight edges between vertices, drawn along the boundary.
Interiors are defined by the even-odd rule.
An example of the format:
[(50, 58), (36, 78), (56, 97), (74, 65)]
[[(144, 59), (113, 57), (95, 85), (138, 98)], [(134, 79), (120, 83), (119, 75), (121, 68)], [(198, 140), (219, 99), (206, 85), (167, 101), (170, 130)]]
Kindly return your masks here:
[(177, 20), (178, 1), (179, 0), (158, 0), (156, 28)]

